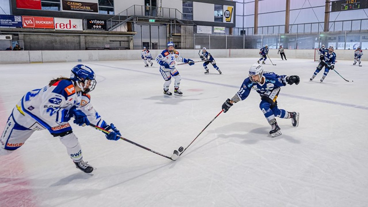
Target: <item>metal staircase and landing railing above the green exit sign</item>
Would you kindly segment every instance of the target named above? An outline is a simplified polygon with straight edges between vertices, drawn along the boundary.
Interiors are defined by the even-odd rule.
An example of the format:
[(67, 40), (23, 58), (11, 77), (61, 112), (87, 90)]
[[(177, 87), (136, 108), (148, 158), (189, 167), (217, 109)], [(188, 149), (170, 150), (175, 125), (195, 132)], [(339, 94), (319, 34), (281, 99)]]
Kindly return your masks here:
[(107, 20), (107, 31), (112, 31), (135, 17), (175, 20), (179, 24), (195, 25), (191, 20), (183, 20), (183, 13), (176, 8), (133, 5)]

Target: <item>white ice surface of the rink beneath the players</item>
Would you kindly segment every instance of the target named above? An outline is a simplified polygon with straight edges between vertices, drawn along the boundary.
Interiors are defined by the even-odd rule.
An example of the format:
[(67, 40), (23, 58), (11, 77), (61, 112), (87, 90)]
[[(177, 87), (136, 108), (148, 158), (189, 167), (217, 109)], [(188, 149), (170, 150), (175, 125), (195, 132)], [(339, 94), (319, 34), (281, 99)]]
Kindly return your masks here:
[[(216, 57), (215, 57), (216, 58)], [(171, 156), (184, 148), (240, 88), (257, 58), (216, 58), (223, 74), (201, 63), (177, 66), (183, 97), (165, 96), (158, 64), (141, 60), (82, 62), (97, 74), (91, 103), (121, 134)], [(0, 206), (363, 207), (368, 204), (368, 62), (338, 61), (323, 83), (309, 81), (317, 62), (272, 58), (265, 71), (298, 75), (282, 87), (279, 108), (300, 112), (299, 126), (277, 119), (272, 138), (256, 91), (220, 114), (171, 161), (123, 140), (109, 141), (91, 127), (72, 124), (94, 175), (75, 168), (66, 148), (36, 131), (1, 157)], [(15, 103), (75, 63), (0, 65), (0, 128)], [(173, 84), (170, 91), (173, 92)]]

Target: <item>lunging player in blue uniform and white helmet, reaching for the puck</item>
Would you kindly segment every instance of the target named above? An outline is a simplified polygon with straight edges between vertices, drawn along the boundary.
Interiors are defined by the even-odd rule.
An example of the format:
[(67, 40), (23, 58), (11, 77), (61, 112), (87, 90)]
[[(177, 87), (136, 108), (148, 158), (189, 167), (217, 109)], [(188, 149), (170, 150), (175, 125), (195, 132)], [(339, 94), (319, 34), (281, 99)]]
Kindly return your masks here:
[(299, 124), (298, 112), (287, 112), (284, 109), (277, 108), (277, 97), (279, 96), (280, 87), (286, 84), (298, 85), (300, 82), (299, 76), (278, 76), (273, 72), (263, 72), (262, 65), (253, 64), (249, 69), (249, 77), (245, 78), (240, 90), (234, 95), (233, 98), (227, 99), (222, 109), (226, 113), (234, 103), (243, 101), (248, 97), (251, 89), (256, 90), (261, 95), (261, 103), (259, 108), (265, 115), (268, 123), (271, 125), (272, 130), (270, 134), (272, 137), (281, 135), (280, 127), (277, 125), (276, 116), (283, 119), (291, 119), (291, 124), (297, 127)]

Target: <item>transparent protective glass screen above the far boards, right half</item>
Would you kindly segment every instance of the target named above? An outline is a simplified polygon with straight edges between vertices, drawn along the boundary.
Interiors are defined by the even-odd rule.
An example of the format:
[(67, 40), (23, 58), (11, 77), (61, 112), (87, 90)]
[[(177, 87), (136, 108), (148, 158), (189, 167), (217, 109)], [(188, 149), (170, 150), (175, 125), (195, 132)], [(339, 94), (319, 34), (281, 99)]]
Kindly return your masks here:
[[(189, 39), (188, 39), (189, 38)], [(193, 41), (190, 45), (177, 45), (182, 49), (260, 49), (268, 45), (277, 49), (282, 45), (285, 49), (315, 49), (333, 45), (335, 49), (368, 49), (368, 32), (315, 32), (309, 34), (258, 34), (258, 35), (212, 35), (193, 34), (186, 37)]]

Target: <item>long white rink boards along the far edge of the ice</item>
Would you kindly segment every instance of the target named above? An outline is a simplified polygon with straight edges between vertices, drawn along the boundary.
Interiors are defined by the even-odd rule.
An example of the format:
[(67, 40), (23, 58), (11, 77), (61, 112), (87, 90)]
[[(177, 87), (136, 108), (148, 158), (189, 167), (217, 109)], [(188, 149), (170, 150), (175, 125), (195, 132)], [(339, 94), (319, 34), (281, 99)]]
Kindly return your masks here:
[[(162, 50), (150, 50), (155, 58)], [(215, 57), (254, 57), (259, 58), (258, 49), (208, 49)], [(0, 51), (0, 64), (13, 63), (57, 63), (57, 62), (83, 62), (108, 60), (140, 60), (141, 50), (38, 50), (38, 51)], [(185, 58), (198, 60), (198, 50), (179, 50)], [(338, 60), (352, 60), (354, 50), (335, 50)], [(287, 58), (314, 60), (314, 50), (285, 49)], [(277, 50), (270, 50), (269, 57), (278, 58)]]

